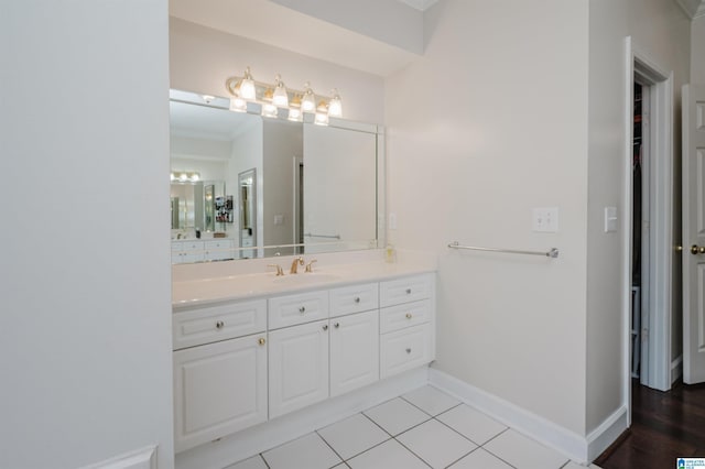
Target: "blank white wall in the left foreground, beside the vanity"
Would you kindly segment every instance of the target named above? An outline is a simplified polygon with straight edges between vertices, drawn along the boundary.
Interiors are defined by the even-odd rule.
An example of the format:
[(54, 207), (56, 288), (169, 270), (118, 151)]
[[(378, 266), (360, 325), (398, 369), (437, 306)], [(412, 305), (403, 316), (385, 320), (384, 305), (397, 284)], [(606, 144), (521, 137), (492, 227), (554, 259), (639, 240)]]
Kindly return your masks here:
[(0, 7), (3, 468), (173, 466), (167, 46), (165, 0)]

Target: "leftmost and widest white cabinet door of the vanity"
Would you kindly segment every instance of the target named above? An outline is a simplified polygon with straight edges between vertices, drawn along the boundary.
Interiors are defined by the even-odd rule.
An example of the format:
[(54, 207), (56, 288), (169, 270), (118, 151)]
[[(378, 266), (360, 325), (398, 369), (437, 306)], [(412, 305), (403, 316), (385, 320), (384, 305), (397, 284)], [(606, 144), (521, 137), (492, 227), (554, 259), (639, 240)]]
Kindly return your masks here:
[(264, 335), (174, 352), (174, 445), (177, 452), (264, 421)]

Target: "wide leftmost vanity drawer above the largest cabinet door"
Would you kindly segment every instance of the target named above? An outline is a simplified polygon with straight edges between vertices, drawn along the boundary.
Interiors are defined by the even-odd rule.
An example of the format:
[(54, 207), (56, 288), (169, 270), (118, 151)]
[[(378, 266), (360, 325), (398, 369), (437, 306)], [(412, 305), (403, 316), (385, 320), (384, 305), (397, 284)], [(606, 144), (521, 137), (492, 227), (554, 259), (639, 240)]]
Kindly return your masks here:
[(267, 299), (174, 313), (174, 350), (267, 329)]

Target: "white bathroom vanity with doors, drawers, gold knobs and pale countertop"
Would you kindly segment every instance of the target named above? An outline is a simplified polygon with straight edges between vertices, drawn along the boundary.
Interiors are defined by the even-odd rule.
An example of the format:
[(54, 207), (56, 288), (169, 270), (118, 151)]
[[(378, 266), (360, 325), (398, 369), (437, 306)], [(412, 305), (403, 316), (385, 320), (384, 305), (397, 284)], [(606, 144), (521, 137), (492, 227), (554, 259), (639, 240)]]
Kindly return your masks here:
[(315, 265), (174, 282), (176, 452), (369, 393), (435, 358), (432, 262)]

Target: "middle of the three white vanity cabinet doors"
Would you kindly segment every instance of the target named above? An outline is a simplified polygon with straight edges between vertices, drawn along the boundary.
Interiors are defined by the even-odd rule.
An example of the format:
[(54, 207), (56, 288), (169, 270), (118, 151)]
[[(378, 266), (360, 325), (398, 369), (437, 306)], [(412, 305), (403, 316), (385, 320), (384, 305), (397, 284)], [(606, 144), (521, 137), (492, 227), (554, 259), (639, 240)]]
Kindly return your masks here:
[(328, 396), (328, 321), (269, 334), (269, 416), (286, 414)]

